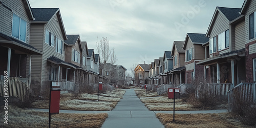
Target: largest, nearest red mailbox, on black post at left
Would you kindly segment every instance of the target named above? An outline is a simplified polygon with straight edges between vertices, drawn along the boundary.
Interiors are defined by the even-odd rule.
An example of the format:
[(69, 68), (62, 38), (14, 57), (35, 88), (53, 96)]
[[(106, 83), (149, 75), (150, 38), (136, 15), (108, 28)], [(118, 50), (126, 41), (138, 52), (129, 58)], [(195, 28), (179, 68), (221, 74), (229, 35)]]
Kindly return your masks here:
[(51, 114), (59, 113), (59, 99), (60, 99), (60, 89), (52, 89), (51, 90), (51, 106), (50, 106)]

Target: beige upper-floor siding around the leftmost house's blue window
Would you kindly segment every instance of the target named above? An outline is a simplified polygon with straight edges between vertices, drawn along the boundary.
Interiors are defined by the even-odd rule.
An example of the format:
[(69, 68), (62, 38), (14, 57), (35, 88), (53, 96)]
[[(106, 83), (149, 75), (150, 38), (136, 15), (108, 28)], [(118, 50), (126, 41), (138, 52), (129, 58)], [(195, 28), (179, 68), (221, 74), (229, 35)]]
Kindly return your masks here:
[(3, 6), (0, 6), (0, 32), (8, 36), (12, 34), (12, 14), (15, 13), (20, 18), (24, 19), (27, 22), (27, 31), (26, 31), (26, 43), (29, 44), (30, 36), (30, 19), (27, 15), (25, 6), (21, 0), (5, 1), (4, 5), (10, 8), (13, 12), (9, 11)]

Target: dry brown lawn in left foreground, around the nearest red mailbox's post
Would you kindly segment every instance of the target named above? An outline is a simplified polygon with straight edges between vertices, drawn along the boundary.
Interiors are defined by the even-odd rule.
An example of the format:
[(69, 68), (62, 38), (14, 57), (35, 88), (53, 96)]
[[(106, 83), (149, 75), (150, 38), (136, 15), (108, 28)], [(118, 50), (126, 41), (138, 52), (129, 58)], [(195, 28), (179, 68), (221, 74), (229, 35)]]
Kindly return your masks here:
[[(3, 113), (3, 110), (0, 111)], [(100, 114), (56, 114), (51, 115), (52, 127), (101, 127), (107, 113)], [(9, 105), (8, 124), (0, 127), (48, 127), (49, 114), (35, 110), (20, 109)]]

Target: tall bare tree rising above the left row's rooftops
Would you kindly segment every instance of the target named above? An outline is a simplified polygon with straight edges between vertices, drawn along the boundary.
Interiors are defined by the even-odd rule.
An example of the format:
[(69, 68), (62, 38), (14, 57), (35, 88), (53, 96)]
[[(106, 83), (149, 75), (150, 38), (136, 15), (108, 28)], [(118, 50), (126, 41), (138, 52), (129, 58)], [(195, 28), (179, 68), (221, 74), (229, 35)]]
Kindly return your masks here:
[(110, 58), (111, 55), (111, 49), (110, 48), (110, 42), (108, 40), (108, 37), (104, 38), (102, 37), (102, 39), (99, 42), (99, 37), (97, 37), (97, 42), (96, 42), (96, 47), (97, 47), (97, 51), (100, 55), (100, 61), (104, 62), (104, 61), (108, 61), (108, 59)]

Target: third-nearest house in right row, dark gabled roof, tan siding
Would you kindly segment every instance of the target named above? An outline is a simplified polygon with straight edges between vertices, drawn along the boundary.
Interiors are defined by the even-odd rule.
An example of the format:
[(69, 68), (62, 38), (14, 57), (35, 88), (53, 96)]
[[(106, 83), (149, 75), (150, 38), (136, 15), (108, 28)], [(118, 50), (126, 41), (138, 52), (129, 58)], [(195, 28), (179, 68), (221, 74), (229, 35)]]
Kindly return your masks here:
[(185, 50), (185, 83), (191, 83), (195, 78), (203, 78), (204, 66), (196, 65), (205, 58), (205, 49), (202, 46), (209, 41), (205, 34), (187, 33), (183, 45)]

